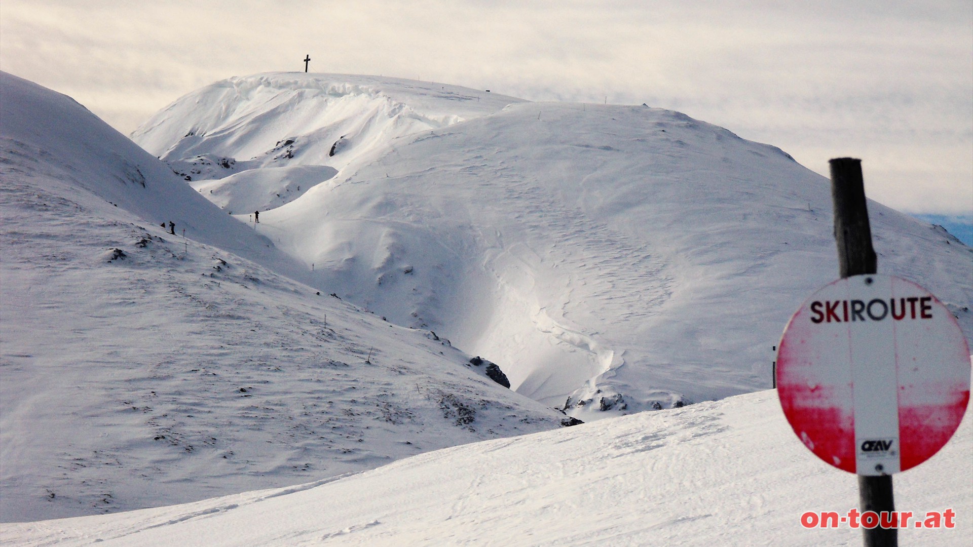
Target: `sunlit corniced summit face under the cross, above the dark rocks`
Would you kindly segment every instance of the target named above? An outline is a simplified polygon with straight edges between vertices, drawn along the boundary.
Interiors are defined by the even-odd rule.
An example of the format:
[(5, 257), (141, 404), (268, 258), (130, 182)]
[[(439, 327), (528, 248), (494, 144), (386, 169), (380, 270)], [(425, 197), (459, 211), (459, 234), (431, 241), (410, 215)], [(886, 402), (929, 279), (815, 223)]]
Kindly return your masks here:
[(518, 101), (410, 80), (355, 77), (349, 82), (341, 76), (269, 73), (194, 91), (131, 138), (167, 161), (215, 154), (249, 162), (250, 168), (287, 160), (341, 169), (397, 137), (450, 126)]

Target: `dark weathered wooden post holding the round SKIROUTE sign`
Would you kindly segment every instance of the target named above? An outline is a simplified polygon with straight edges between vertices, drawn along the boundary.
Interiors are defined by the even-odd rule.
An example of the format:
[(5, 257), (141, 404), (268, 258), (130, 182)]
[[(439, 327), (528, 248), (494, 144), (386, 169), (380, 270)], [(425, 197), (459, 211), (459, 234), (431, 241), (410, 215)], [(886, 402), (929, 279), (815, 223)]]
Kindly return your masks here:
[[(876, 274), (877, 258), (872, 248), (872, 229), (868, 222), (865, 184), (861, 160), (831, 160), (831, 200), (835, 207), (835, 243), (838, 246), (838, 270), (841, 276)], [(861, 512), (875, 511), (889, 515), (895, 511), (892, 476), (858, 475), (858, 501)], [(898, 547), (897, 528), (862, 529), (865, 547)]]

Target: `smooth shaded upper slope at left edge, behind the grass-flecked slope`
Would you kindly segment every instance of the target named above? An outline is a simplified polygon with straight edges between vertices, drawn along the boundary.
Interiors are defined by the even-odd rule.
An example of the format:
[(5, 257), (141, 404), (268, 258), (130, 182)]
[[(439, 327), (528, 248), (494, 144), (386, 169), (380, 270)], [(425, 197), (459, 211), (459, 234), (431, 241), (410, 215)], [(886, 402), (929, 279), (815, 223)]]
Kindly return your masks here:
[(166, 164), (71, 97), (7, 73), (2, 73), (0, 97), (5, 164), (14, 172), (69, 181), (146, 223), (173, 222), (180, 237), (185, 231), (186, 237), (272, 263), (278, 272), (297, 278), (303, 273), (270, 240), (240, 230), (230, 215), (186, 192)]

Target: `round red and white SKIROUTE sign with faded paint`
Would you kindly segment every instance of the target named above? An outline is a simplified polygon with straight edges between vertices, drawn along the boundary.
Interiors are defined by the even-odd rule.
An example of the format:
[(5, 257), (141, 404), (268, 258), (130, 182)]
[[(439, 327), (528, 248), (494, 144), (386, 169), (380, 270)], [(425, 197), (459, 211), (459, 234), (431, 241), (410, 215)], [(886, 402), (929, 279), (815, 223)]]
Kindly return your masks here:
[(814, 293), (784, 329), (776, 375), (798, 438), (858, 475), (905, 471), (936, 454), (970, 398), (970, 352), (955, 317), (890, 275)]

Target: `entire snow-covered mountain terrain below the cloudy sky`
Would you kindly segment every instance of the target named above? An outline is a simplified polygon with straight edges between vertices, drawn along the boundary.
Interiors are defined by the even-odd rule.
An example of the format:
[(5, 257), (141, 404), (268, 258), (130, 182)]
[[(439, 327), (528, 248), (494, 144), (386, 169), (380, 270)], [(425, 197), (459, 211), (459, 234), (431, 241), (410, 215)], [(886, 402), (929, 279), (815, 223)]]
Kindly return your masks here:
[[(769, 386), (836, 276), (828, 183), (774, 147), (648, 106), (265, 74), (177, 100), (147, 153), (69, 97), (0, 93), (0, 520), (233, 494), (0, 542), (760, 543), (853, 504), (772, 392), (705, 402)], [(870, 207), (881, 271), (969, 337), (973, 251)], [(943, 470), (973, 475), (970, 442), (905, 475), (917, 509), (968, 522)]]

